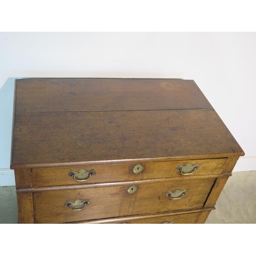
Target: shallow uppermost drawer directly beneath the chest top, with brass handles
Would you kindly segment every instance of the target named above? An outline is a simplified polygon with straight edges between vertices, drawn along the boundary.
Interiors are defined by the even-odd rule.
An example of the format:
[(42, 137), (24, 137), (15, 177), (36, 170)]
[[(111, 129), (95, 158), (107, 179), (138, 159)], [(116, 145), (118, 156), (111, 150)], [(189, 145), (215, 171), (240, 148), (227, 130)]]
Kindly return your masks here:
[(87, 165), (32, 170), (33, 187), (221, 174), (227, 158)]

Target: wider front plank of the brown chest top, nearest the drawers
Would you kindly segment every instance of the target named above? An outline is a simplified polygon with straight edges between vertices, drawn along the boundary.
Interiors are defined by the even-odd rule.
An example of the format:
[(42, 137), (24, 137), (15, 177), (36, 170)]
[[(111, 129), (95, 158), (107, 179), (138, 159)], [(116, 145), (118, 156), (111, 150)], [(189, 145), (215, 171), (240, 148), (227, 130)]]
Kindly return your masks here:
[(212, 110), (20, 114), (13, 148), (12, 168), (26, 163), (243, 154)]

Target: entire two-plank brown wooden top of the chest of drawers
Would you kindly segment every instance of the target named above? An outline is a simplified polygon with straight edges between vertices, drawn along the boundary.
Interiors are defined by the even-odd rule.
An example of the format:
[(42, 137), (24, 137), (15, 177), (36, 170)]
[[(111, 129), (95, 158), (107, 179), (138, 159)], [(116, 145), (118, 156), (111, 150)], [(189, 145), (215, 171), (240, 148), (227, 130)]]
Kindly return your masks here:
[(193, 80), (16, 80), (11, 168), (244, 155)]

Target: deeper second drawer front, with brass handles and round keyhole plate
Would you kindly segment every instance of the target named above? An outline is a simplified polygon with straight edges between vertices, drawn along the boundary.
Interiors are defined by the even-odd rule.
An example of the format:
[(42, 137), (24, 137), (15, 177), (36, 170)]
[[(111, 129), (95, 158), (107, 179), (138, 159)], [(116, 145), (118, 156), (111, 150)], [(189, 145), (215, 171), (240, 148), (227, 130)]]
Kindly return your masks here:
[(35, 223), (66, 223), (203, 207), (215, 178), (35, 192)]

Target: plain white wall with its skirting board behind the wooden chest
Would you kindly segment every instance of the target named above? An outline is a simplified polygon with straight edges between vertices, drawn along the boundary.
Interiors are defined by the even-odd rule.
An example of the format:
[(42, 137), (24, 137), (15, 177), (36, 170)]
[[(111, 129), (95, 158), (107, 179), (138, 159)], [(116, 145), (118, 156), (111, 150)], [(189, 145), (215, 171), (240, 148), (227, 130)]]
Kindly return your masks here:
[(256, 33), (0, 33), (0, 186), (19, 77), (193, 79), (245, 151), (234, 171), (256, 170)]

